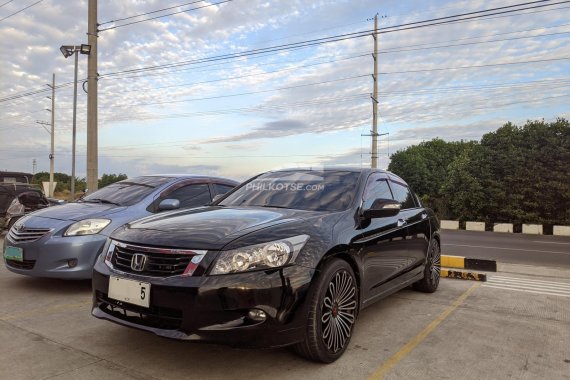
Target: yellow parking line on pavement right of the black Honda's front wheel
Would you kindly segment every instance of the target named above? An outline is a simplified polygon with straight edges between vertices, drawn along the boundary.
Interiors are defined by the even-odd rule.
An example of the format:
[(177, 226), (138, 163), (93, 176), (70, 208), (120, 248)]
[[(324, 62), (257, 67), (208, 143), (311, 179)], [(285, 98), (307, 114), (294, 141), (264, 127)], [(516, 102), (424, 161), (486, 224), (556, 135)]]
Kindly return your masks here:
[(423, 342), (429, 334), (435, 330), (441, 322), (447, 319), (449, 315), (457, 309), (469, 295), (477, 288), (480, 284), (473, 284), (469, 289), (467, 289), (463, 294), (461, 294), (451, 305), (449, 305), (436, 319), (431, 321), (418, 335), (413, 337), (408, 341), (398, 352), (392, 355), (387, 361), (385, 361), (380, 367), (378, 367), (372, 375), (368, 377), (368, 380), (382, 379), (386, 373), (396, 364), (398, 364), (402, 359), (404, 359), (414, 348), (416, 348), (421, 342)]

